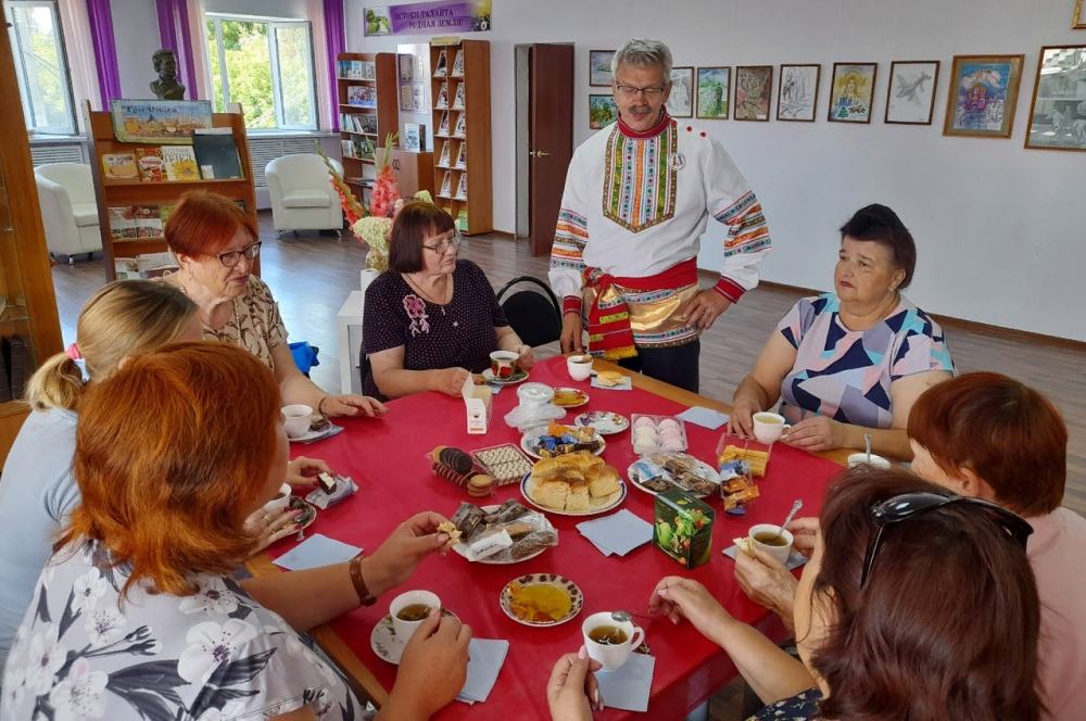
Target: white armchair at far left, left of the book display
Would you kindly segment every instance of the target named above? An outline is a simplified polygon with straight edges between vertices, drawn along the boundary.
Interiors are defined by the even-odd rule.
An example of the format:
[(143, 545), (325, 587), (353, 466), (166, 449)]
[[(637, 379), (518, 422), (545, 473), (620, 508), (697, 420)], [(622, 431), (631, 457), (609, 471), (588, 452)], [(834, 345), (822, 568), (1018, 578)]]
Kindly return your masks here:
[(80, 163), (51, 163), (34, 168), (38, 185), (46, 248), (54, 255), (75, 262), (79, 253), (102, 250), (98, 224), (98, 202), (90, 166)]

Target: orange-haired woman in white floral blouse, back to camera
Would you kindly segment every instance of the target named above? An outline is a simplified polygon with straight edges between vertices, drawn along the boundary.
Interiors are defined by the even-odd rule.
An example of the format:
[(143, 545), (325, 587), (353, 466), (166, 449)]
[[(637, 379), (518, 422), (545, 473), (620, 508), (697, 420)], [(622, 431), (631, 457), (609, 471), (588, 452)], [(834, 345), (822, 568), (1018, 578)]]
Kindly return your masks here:
[[(41, 574), (12, 647), (0, 718), (356, 719), (339, 673), (300, 640), (402, 584), (449, 536), (419, 514), (367, 558), (230, 578), (256, 536), (245, 519), (287, 472), (279, 387), (226, 343), (138, 356), (80, 403), (83, 503)], [(376, 620), (376, 619), (375, 619)], [(381, 716), (426, 719), (467, 672), (470, 629), (428, 618)]]

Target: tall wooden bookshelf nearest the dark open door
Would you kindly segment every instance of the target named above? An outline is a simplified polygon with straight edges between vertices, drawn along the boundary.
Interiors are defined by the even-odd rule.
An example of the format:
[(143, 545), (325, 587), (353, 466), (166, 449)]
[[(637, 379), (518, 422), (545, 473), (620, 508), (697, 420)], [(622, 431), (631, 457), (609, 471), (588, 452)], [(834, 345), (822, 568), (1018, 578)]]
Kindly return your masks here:
[[(457, 61), (457, 55), (462, 61)], [(458, 45), (431, 45), (430, 67), (433, 73), (430, 94), (433, 99), (433, 187), (437, 191), (433, 200), (457, 219), (462, 232), (469, 236), (490, 232), (494, 229), (490, 42), (462, 40)], [(463, 99), (463, 105), (457, 102), (458, 98)], [(444, 192), (446, 174), (449, 192)], [(466, 197), (459, 192), (465, 189)], [(462, 213), (467, 214), (466, 228), (458, 220)]]

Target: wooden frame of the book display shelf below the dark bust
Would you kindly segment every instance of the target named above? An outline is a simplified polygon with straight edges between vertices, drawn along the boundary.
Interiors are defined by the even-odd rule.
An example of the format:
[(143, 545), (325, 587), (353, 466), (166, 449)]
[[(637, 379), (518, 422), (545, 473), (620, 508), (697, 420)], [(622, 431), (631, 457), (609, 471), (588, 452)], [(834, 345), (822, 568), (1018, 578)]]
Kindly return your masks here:
[[(256, 225), (256, 189), (253, 186), (253, 165), (249, 157), (249, 138), (245, 134), (245, 118), (240, 112), (212, 113), (212, 125), (216, 128), (231, 128), (233, 141), (238, 146), (238, 157), (241, 161), (243, 178), (226, 180), (192, 180), (144, 182), (141, 180), (121, 180), (103, 178), (102, 155), (109, 153), (131, 153), (137, 148), (147, 148), (152, 143), (121, 142), (113, 134), (113, 117), (105, 111), (90, 110), (90, 103), (84, 101), (85, 135), (89, 140), (90, 168), (94, 176), (94, 194), (98, 198), (99, 227), (102, 231), (102, 252), (105, 255), (105, 279), (116, 280), (114, 260), (135, 257), (144, 253), (161, 253), (167, 250), (165, 238), (137, 238), (117, 240), (110, 232), (111, 207), (136, 205), (176, 205), (181, 195), (189, 190), (207, 190), (225, 195), (245, 205), (245, 213)], [(164, 146), (167, 147), (167, 146)], [(253, 273), (260, 275), (260, 256), (253, 261)]]

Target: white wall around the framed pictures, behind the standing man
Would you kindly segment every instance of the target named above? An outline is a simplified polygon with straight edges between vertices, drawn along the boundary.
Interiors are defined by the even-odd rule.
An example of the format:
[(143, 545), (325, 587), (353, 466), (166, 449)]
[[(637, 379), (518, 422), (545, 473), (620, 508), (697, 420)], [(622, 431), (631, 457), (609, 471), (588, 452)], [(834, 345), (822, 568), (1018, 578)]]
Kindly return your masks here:
[[(346, 0), (348, 49), (395, 52), (426, 36), (367, 39)], [(661, 12), (661, 9), (664, 10)], [(675, 65), (822, 63), (818, 122), (690, 121), (719, 138), (761, 199), (773, 236), (766, 280), (829, 288), (835, 229), (871, 202), (892, 206), (917, 238), (909, 296), (924, 309), (1086, 341), (1086, 155), (1026, 151), (1030, 101), (1043, 45), (1083, 45), (1074, 2), (1033, 0), (497, 0), (491, 42), (494, 226), (515, 230), (515, 83), (518, 42), (576, 42), (574, 137), (588, 129), (588, 54), (628, 37), (667, 42)], [(1025, 54), (1013, 136), (944, 138), (955, 54)], [(882, 123), (894, 60), (943, 62), (932, 126)], [(877, 62), (870, 126), (826, 123), (833, 62)], [(593, 88), (592, 92), (601, 89)], [(699, 265), (721, 256), (710, 226)]]

